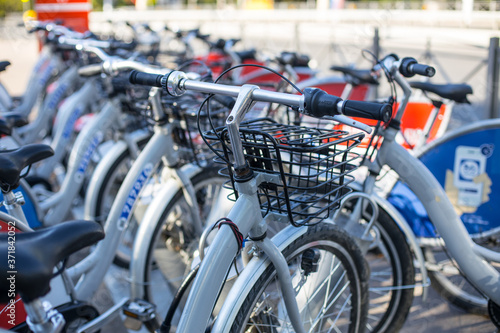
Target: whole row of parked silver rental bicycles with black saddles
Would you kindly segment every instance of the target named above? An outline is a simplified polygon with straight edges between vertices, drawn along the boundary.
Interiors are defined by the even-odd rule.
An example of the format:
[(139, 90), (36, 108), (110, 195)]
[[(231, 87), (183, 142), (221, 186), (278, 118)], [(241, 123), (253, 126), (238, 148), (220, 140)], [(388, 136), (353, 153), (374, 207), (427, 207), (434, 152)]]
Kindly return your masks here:
[[(191, 30), (167, 68), (159, 47), (29, 28), (43, 48), (26, 93), (0, 89), (3, 329), (393, 332), (431, 282), (500, 327), (500, 123), (443, 135), (470, 86), (409, 82), (434, 69), (394, 54), (321, 77)], [(391, 96), (371, 101), (381, 81)], [(101, 314), (113, 263), (130, 296)]]

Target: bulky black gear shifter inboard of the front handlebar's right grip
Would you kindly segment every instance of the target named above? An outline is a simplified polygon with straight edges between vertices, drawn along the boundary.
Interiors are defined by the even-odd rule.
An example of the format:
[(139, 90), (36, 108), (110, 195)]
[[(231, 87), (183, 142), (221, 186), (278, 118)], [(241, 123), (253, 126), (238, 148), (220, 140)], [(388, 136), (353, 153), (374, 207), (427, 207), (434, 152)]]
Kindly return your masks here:
[(304, 114), (321, 118), (323, 116), (335, 116), (339, 114), (337, 105), (342, 101), (340, 97), (328, 95), (318, 88), (304, 89)]

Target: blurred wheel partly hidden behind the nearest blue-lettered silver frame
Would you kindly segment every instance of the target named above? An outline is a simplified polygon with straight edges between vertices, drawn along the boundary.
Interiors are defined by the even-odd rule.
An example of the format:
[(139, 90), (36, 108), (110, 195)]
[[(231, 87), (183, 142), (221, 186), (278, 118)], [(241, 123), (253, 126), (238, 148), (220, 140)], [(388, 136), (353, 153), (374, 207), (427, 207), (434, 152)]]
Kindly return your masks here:
[[(149, 137), (137, 143), (140, 150), (148, 143)], [(134, 159), (130, 156), (130, 150), (124, 150), (106, 171), (103, 182), (97, 191), (97, 199), (94, 215), (97, 222), (104, 224), (113, 205), (113, 201), (120, 190), (120, 186), (132, 167)], [(123, 171), (120, 173), (120, 171)], [(107, 199), (110, 198), (110, 199)], [(132, 215), (133, 219), (133, 215)], [(137, 222), (130, 221), (124, 231), (120, 245), (116, 249), (113, 263), (121, 268), (130, 267), (130, 253), (132, 251), (133, 239), (137, 229)]]

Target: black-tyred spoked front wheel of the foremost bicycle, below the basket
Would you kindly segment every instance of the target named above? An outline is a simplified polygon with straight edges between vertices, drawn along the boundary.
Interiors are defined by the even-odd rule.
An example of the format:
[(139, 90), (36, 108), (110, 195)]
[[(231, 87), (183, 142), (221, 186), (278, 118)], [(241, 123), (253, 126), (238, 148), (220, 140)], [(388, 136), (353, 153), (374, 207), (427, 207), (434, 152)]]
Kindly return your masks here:
[[(310, 275), (305, 278), (302, 275), (303, 269), (299, 269), (302, 264), (302, 262), (299, 264), (299, 261), (301, 254), (310, 249), (321, 251), (321, 259), (318, 262), (320, 268), (318, 268), (317, 272), (311, 272)], [(366, 316), (368, 311), (369, 269), (361, 250), (353, 238), (351, 238), (338, 226), (327, 223), (319, 223), (308, 227), (308, 230), (290, 243), (282, 251), (282, 253), (289, 262), (290, 272), (292, 273), (292, 281), (296, 291), (299, 287), (297, 282), (304, 281), (302, 280), (303, 278), (306, 279), (300, 286), (300, 291), (297, 292), (299, 309), (303, 310), (301, 315), (305, 315), (306, 313), (304, 312), (308, 312), (305, 311), (306, 309), (314, 310), (314, 313), (317, 313), (318, 316), (321, 310), (324, 310), (325, 312), (323, 314), (326, 315), (326, 318), (322, 316), (321, 320), (318, 319), (315, 323), (318, 323), (319, 321), (319, 324), (322, 326), (334, 326), (336, 329), (335, 332), (363, 331), (363, 327), (366, 325)], [(325, 275), (323, 274), (325, 269), (328, 271), (326, 280), (324, 279)], [(294, 273), (296, 275), (294, 275)], [(333, 281), (332, 278), (338, 279)], [(279, 282), (274, 282), (275, 279), (276, 271), (272, 265), (269, 265), (265, 269), (264, 273), (256, 279), (256, 282), (250, 289), (249, 293), (240, 296), (245, 297), (245, 300), (238, 309), (230, 332), (253, 332), (251, 329), (255, 329), (256, 332), (261, 332), (259, 327), (257, 327), (258, 324), (263, 325), (265, 332), (280, 332), (281, 329), (283, 329), (284, 332), (290, 331), (291, 324), (287, 321), (286, 311), (284, 310), (283, 301), (280, 297), (281, 294), (279, 292), (279, 287), (277, 287)], [(309, 290), (305, 289), (310, 289), (310, 286), (315, 282), (318, 283), (319, 289), (317, 292), (312, 294), (308, 293)], [(339, 285), (341, 282), (344, 282), (344, 284), (341, 284), (342, 287)], [(274, 287), (276, 287), (277, 292), (266, 293)], [(322, 292), (324, 291), (328, 292), (326, 294), (326, 298), (321, 297), (323, 295)], [(337, 292), (339, 293), (337, 294)], [(344, 292), (346, 293), (344, 294)], [(264, 297), (262, 297), (263, 293), (266, 293)], [(334, 294), (335, 298), (332, 300), (331, 296)], [(313, 307), (309, 304), (309, 295), (319, 296), (319, 298), (322, 298), (321, 301), (323, 301), (323, 306), (321, 306), (320, 309), (317, 309), (317, 306), (313, 309)], [(302, 297), (306, 297), (307, 307), (302, 306), (303, 304), (300, 302)], [(315, 297), (311, 297), (311, 299), (312, 298)], [(262, 300), (262, 302), (259, 302), (259, 300)], [(317, 299), (315, 298), (314, 300)], [(336, 300), (341, 300), (343, 303), (338, 303)], [(266, 306), (268, 304), (264, 303), (271, 301), (273, 302), (270, 306)], [(325, 303), (328, 303), (329, 306), (325, 307)], [(276, 310), (278, 313), (273, 312), (271, 314), (272, 310)], [(339, 320), (340, 313), (332, 314), (330, 310), (348, 310), (348, 313), (345, 314), (346, 317), (342, 317), (342, 320)], [(310, 318), (318, 318), (318, 316), (314, 316), (314, 314), (312, 317), (307, 315), (304, 316), (306, 331), (308, 331), (309, 328), (314, 327), (314, 325), (309, 323)], [(327, 320), (331, 319), (329, 318), (331, 316), (334, 316), (332, 318), (336, 319), (333, 324), (333, 320), (330, 320), (330, 322)], [(272, 325), (276, 327), (271, 328), (270, 326)], [(283, 327), (284, 325), (286, 325), (286, 327)], [(328, 328), (331, 329), (333, 327)], [(322, 330), (315, 330), (315, 332), (319, 331)]]

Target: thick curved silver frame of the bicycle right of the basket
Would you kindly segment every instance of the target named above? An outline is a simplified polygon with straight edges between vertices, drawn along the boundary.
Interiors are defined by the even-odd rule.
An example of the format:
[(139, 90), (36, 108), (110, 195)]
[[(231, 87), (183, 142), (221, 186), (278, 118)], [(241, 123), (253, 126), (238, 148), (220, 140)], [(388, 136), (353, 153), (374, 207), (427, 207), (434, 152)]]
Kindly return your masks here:
[[(405, 93), (395, 117), (396, 120), (400, 120), (402, 117), (401, 111), (406, 106), (411, 89), (399, 73), (394, 73), (394, 77)], [(499, 304), (500, 273), (484, 260), (485, 257), (494, 259), (498, 255), (474, 244), (436, 178), (422, 162), (395, 142), (397, 132), (397, 128), (388, 127), (385, 129), (384, 141), (375, 160), (369, 165), (370, 175), (365, 181), (364, 191), (368, 194), (373, 193), (374, 175), (380, 173), (383, 165), (387, 164), (392, 168), (421, 200), (450, 254), (457, 261), (467, 278), (495, 303)], [(453, 226), (452, 228), (450, 228), (450, 223)]]

